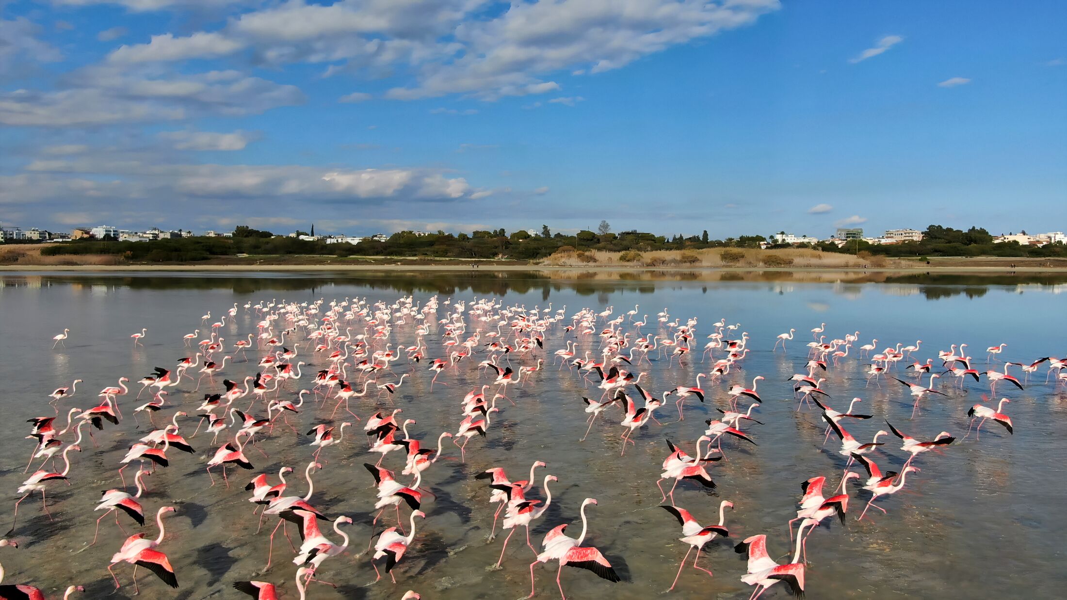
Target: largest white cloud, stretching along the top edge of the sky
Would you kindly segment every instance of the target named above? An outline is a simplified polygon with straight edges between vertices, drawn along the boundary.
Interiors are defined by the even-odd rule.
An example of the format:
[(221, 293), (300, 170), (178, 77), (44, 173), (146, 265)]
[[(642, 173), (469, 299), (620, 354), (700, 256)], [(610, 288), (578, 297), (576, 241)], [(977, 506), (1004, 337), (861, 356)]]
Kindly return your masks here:
[(781, 6), (779, 0), (627, 0), (622, 6), (611, 0), (542, 0), (512, 2), (487, 17), (489, 3), (291, 0), (232, 18), (218, 31), (154, 36), (149, 44), (120, 48), (111, 60), (212, 58), (248, 48), (261, 64), (333, 63), (325, 76), (364, 69), (411, 76), (412, 84), (386, 92), (391, 99), (466, 94), (494, 100), (555, 92), (560, 85), (545, 78), (560, 69), (619, 68), (750, 25)]

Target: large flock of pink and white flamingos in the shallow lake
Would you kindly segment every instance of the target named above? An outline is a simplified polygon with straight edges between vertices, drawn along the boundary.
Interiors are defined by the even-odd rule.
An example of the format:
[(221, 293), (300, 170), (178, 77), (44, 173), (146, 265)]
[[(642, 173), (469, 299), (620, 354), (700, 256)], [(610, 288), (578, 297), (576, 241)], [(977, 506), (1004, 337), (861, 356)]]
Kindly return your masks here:
[[(974, 382), (986, 377), (989, 392), (994, 394), (998, 385), (1002, 391), (1006, 386), (1021, 389), (1028, 385), (1031, 374), (1044, 366), (1048, 369), (1046, 382), (1054, 377), (1057, 385), (1067, 384), (1064, 370), (1067, 360), (1042, 357), (1030, 363), (1000, 361), (999, 355), (1005, 344), (986, 348), (986, 356), (982, 357), (986, 366), (1002, 364), (983, 369), (967, 356), (966, 344), (953, 345), (938, 352), (937, 358), (922, 360), (918, 358), (925, 350), (920, 350), (921, 341), (879, 346), (878, 340), (861, 343), (859, 333), (827, 340), (825, 323), (811, 329), (811, 341), (793, 341), (795, 329), (778, 336), (775, 352), (789, 352), (786, 345), (807, 343), (805, 372), (789, 379), (796, 410), (821, 412), (826, 423), (826, 439), (832, 434), (840, 442), (837, 448), (832, 443), (825, 445), (824, 451), (831, 455), (840, 453), (847, 460), (840, 474), (798, 482), (801, 494), (797, 500), (796, 518), (789, 523), (793, 554), (779, 563), (768, 553), (766, 535), (747, 535), (748, 532), (738, 535), (730, 531), (727, 508), (734, 508), (730, 501), (719, 503), (717, 522), (695, 516), (706, 513), (704, 507), (686, 509), (674, 503), (679, 485), (716, 487), (712, 473), (717, 461), (727, 459), (723, 447), (729, 450), (730, 444), (758, 444), (759, 434), (754, 427), (760, 424), (759, 411), (753, 409), (763, 402), (758, 386), (764, 377), (757, 376), (748, 383), (748, 375), (742, 375), (744, 383), (731, 383), (739, 379), (745, 357), (750, 352), (749, 337), (738, 334), (739, 325), (728, 325), (721, 320), (711, 326), (710, 335), (704, 336), (700, 335), (703, 331), (698, 333), (697, 319), (674, 319), (666, 309), (650, 324), (647, 315), (638, 315), (638, 307), (626, 312), (616, 312), (612, 308), (603, 311), (583, 308), (568, 314), (566, 308), (552, 310), (551, 305), (546, 309), (527, 309), (506, 306), (497, 299), (440, 301), (437, 296), (425, 303), (411, 296), (392, 303), (366, 298), (329, 303), (264, 301), (254, 305), (250, 302), (243, 307), (234, 304), (224, 312), (214, 323), (208, 312), (202, 319), (203, 329), (186, 335), (184, 340), (173, 340), (176, 350), (186, 355), (181, 357), (176, 353), (176, 364), (156, 368), (152, 374), (133, 382), (126, 376), (118, 377), (116, 386), (100, 390), (96, 396), (91, 396), (92, 401), (84, 400), (83, 390), (77, 388), (80, 379), (48, 394), (49, 405), (42, 402), (41, 412), (45, 416), (29, 421), (27, 437), (34, 440), (34, 445), (27, 465), (27, 477), (17, 489), (12, 530), (7, 532), (7, 539), (0, 539), (0, 547), (19, 547), (18, 538), (12, 536), (20, 533), (20, 505), (23, 514), (36, 509), (32, 504), (23, 504), (31, 497), (39, 496), (41, 510), (48, 519), (52, 518), (48, 494), (53, 489), (77, 483), (80, 457), (71, 453), (93, 452), (97, 438), (105, 435), (124, 436), (129, 451), (113, 465), (116, 471), (114, 488), (105, 490), (97, 499), (95, 510), (99, 517), (92, 544), (97, 544), (101, 535), (106, 538), (117, 535), (117, 531), (109, 532), (111, 520), (117, 525), (116, 530), (126, 532), (130, 524), (144, 525), (154, 515), (158, 535), (152, 537), (143, 532), (129, 535), (109, 561), (101, 558), (101, 575), (106, 568), (114, 579), (115, 588), (122, 585), (120, 575), (125, 574), (140, 590), (138, 569), (147, 569), (162, 584), (178, 586), (178, 573), (168, 560), (171, 548), (164, 535), (164, 517), (174, 513), (175, 507), (149, 505), (145, 480), (165, 469), (170, 461), (193, 461), (195, 453), (201, 452), (209, 457), (205, 468), (211, 477), (212, 493), (244, 494), (253, 503), (256, 513), (238, 526), (266, 530), (273, 524), (267, 569), (274, 558), (275, 534), (281, 529), (285, 537), (290, 538), (289, 524), (294, 525), (292, 530), (298, 534), (299, 546), (291, 538), (288, 546), (292, 551), (291, 562), (298, 569), (291, 583), (303, 599), (310, 583), (336, 587), (319, 579), (320, 575), (347, 571), (344, 561), (335, 558), (349, 548), (351, 539), (344, 526), (353, 522), (347, 516), (328, 516), (316, 507), (313, 498), (315, 473), (321, 469), (343, 468), (331, 465), (339, 464), (343, 457), (377, 454), (377, 459), (365, 458), (367, 473), (362, 475), (368, 488), (372, 481), (377, 489), (373, 497), (369, 491), (365, 494), (364, 501), (368, 505), (373, 503), (377, 513), (370, 523), (373, 535), (364, 552), (370, 554), (378, 573), (376, 582), (383, 577), (384, 570), (395, 584), (395, 567), (405, 555), (419, 552), (419, 519), (426, 517), (420, 507), (424, 502), (436, 499), (429, 482), (433, 480), (430, 469), (439, 458), (444, 453), (455, 452), (465, 463), (467, 445), (478, 449), (479, 438), (493, 435), (493, 420), (498, 411), (506, 407), (521, 412), (524, 403), (539, 402), (527, 398), (516, 405), (508, 396), (515, 387), (527, 382), (537, 386), (538, 379), (543, 377), (580, 377), (588, 386), (588, 396), (563, 399), (563, 409), (579, 419), (584, 411), (589, 423), (586, 437), (595, 426), (616, 432), (606, 435), (617, 435), (620, 454), (626, 452), (627, 445), (634, 443), (631, 438), (641, 435), (642, 429), (669, 424), (660, 419), (684, 420), (686, 403), (705, 403), (719, 413), (718, 419), (706, 421), (707, 428), (695, 447), (683, 449), (667, 442), (668, 452), (656, 485), (663, 492), (662, 507), (678, 520), (680, 540), (688, 546), (671, 589), (687, 565), (701, 571), (694, 577), (712, 575), (710, 569), (699, 564), (701, 552), (713, 539), (729, 537), (736, 541), (734, 550), (747, 555), (747, 569), (740, 580), (754, 586), (752, 599), (778, 583), (784, 583), (781, 588), (799, 596), (805, 589), (807, 538), (833, 518), (844, 522), (849, 512), (850, 480), (858, 480), (861, 493), (869, 496), (859, 519), (863, 519), (871, 508), (886, 513), (878, 504), (910, 483), (911, 473), (920, 472), (914, 465), (919, 456), (945, 451), (959, 439), (947, 432), (930, 435), (929, 427), (914, 419), (907, 424), (891, 423), (861, 413), (856, 410), (859, 399), (853, 400), (847, 407), (838, 406), (845, 410), (835, 409), (830, 405), (829, 390), (822, 387), (825, 378), (821, 374), (834, 369), (842, 360), (865, 361), (867, 385), (901, 385), (901, 393), (910, 394), (913, 400), (912, 417), (920, 413), (924, 403), (944, 396), (946, 392), (941, 390), (964, 386), (968, 377)], [(220, 334), (227, 327), (227, 319), (233, 330), (239, 315), (254, 322), (256, 330), (236, 343), (228, 342)], [(642, 329), (656, 333), (646, 334)], [(130, 336), (128, 343), (141, 345), (150, 333), (150, 328), (142, 328)], [(68, 336), (77, 334), (64, 329), (53, 338), (54, 352), (65, 352)], [(400, 340), (413, 343), (398, 344)], [(550, 344), (550, 340), (555, 343)], [(657, 394), (641, 385), (646, 374), (641, 366), (647, 363), (651, 368), (653, 361), (659, 369), (666, 369), (668, 377), (671, 369), (683, 361), (706, 363), (707, 368), (701, 369), (706, 373), (698, 374), (692, 386), (680, 383)], [(302, 370), (310, 364), (316, 366), (317, 372)], [(234, 373), (238, 366), (243, 368), (243, 378)], [(1023, 380), (1012, 374), (1013, 368)], [(432, 390), (433, 386), (447, 386), (450, 375), (458, 370), (481, 377), (484, 385), (471, 390), (447, 388), (457, 399), (465, 393), (456, 407), (455, 429), (430, 440), (411, 438), (408, 427), (415, 421), (401, 420), (402, 409), (393, 406), (394, 399), (403, 394), (404, 379), (425, 377)], [(402, 374), (398, 376), (396, 371)], [(942, 383), (941, 389), (937, 389), (937, 379), (950, 376), (955, 382), (951, 386)], [(177, 386), (184, 382), (190, 389), (195, 385), (195, 390), (177, 392)], [(429, 402), (430, 399), (424, 396), (420, 401)], [(969, 428), (967, 436), (978, 436), (983, 426), (993, 424), (1010, 434), (1014, 424), (1005, 411), (1009, 400), (985, 402), (985, 405), (960, 408), (967, 410), (974, 429)], [(409, 406), (408, 410), (412, 409), (418, 410), (417, 402)], [(147, 420), (152, 429), (134, 434), (128, 423), (131, 417), (142, 426)], [(854, 423), (869, 419), (883, 422), (888, 432), (878, 431), (870, 441), (857, 439), (848, 432)], [(197, 435), (201, 437), (194, 440)], [(258, 472), (255, 467), (259, 454), (266, 456), (259, 444), (266, 439), (285, 437), (291, 438), (291, 443), (306, 445), (309, 461), (303, 469), (306, 481), (303, 494), (293, 491), (291, 482), (285, 481), (285, 475), (293, 471), (291, 467), (281, 469), (276, 476)], [(445, 438), (451, 438), (450, 444)], [(580, 443), (576, 439), (555, 441)], [(198, 451), (194, 450), (194, 442)], [(892, 452), (897, 443), (899, 451), (909, 455), (907, 461), (898, 471), (882, 470), (876, 463), (876, 459), (883, 460), (877, 457), (877, 452)], [(205, 445), (210, 447), (206, 452)], [(493, 465), (507, 456), (489, 457), (483, 452), (478, 458)], [(854, 465), (855, 471), (851, 470)], [(130, 473), (127, 467), (130, 471), (137, 469), (132, 476), (127, 476)], [(544, 463), (535, 463), (525, 480), (510, 479), (499, 466), (477, 470), (476, 477), (483, 481), (487, 488), (478, 501), (490, 509), (496, 505), (490, 539), (495, 537), (498, 528), (501, 535), (503, 530), (508, 530), (497, 567), (505, 557), (508, 542), (522, 528), (534, 555), (529, 563), (530, 596), (536, 591), (535, 568), (540, 563), (558, 564), (556, 583), (561, 596), (563, 566), (592, 571), (608, 582), (620, 581), (605, 554), (586, 544), (590, 528), (587, 509), (598, 505), (595, 499), (587, 498), (582, 503), (582, 529), (576, 537), (568, 535), (567, 522), (540, 525), (539, 519), (552, 502), (548, 486), (557, 481), (554, 475), (545, 475), (540, 486), (537, 485), (536, 471), (545, 467)], [(357, 473), (352, 476), (361, 477)], [(919, 475), (911, 479), (915, 476)], [(665, 482), (669, 488), (663, 486)], [(94, 491), (81, 487), (77, 493)], [(105, 519), (109, 522), (103, 523), (101, 534)], [(264, 528), (265, 521), (267, 528)], [(794, 523), (797, 523), (795, 532)], [(536, 548), (530, 529), (544, 530), (548, 525), (552, 529)], [(33, 552), (32, 544), (23, 542), (22, 546), (27, 547), (22, 551)], [(607, 550), (611, 555), (612, 551), (621, 549)], [(688, 560), (694, 550), (696, 556), (690, 564)], [(100, 554), (101, 557), (107, 555)], [(124, 573), (126, 565), (132, 568)], [(2, 578), (0, 566), (0, 580)], [(160, 584), (153, 582), (146, 587), (149, 585)], [(278, 598), (285, 587), (265, 581), (238, 581), (232, 585), (259, 600)], [(81, 586), (70, 585), (63, 598), (81, 590)], [(163, 597), (162, 588), (153, 589), (152, 597)], [(0, 585), (0, 598), (37, 599), (44, 598), (44, 594), (31, 584), (3, 584)], [(402, 598), (416, 599), (419, 594), (409, 590)]]

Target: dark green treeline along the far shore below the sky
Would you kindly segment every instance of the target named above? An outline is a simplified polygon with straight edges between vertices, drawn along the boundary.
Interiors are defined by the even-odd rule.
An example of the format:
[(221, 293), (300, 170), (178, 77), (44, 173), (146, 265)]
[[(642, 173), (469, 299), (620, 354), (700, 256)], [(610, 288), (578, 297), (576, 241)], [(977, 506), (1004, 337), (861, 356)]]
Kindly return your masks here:
[[(605, 224), (606, 225), (606, 224)], [(604, 229), (604, 227), (602, 227)], [(830, 242), (803, 245), (825, 252), (889, 257), (931, 256), (1000, 256), (1000, 257), (1067, 257), (1064, 244), (1023, 246), (1016, 242), (994, 244), (993, 237), (985, 229), (972, 227), (967, 231), (930, 225), (923, 232), (921, 242), (891, 245), (870, 244), (862, 240), (850, 241), (843, 247)], [(389, 256), (430, 257), (456, 259), (508, 258), (537, 260), (555, 253), (568, 252), (651, 252), (681, 250), (715, 247), (757, 248), (767, 239), (763, 236), (740, 236), (726, 240), (710, 240), (707, 231), (701, 236), (655, 236), (641, 232), (611, 233), (609, 231), (579, 231), (574, 236), (552, 233), (547, 226), (541, 233), (530, 234), (520, 230), (507, 233), (504, 229), (474, 231), (473, 233), (445, 233), (437, 231), (416, 236), (411, 231), (394, 233), (384, 242), (365, 240), (359, 244), (327, 244), (298, 238), (276, 237), (269, 231), (241, 226), (233, 238), (179, 238), (152, 242), (115, 242), (77, 240), (46, 247), (46, 256), (58, 255), (120, 255), (127, 260), (147, 262), (195, 262), (212, 257), (246, 255), (329, 255), (329, 256)], [(790, 247), (777, 245), (773, 247)]]

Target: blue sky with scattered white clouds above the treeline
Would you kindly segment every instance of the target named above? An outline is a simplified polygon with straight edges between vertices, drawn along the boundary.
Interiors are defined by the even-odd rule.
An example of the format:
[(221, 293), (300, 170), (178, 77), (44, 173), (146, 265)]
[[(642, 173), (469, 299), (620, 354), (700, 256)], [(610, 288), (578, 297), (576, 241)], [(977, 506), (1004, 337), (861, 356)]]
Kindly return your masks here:
[(0, 6), (5, 224), (1067, 227), (1067, 2)]

